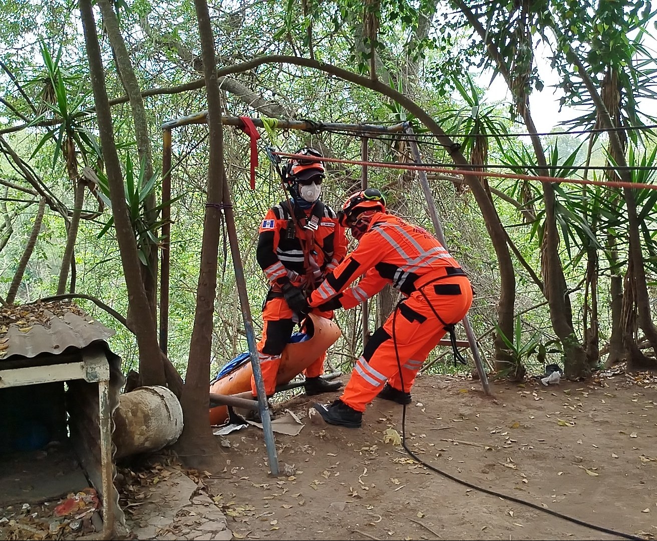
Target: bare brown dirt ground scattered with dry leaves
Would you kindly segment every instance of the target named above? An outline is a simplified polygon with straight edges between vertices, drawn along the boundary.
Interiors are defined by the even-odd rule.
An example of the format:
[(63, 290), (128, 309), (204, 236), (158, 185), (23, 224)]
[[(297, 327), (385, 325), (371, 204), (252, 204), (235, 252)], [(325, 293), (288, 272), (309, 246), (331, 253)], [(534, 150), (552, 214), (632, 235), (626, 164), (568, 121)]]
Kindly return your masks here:
[[(491, 399), (478, 381), (420, 377), (407, 408), (407, 443), (423, 461), (471, 483), (654, 538), (657, 385), (638, 379), (496, 383)], [(386, 437), (387, 429), (401, 434), (402, 406), (374, 400), (363, 427), (346, 429), (309, 423), (313, 401), (299, 395), (280, 406), (306, 423), (297, 436), (275, 435), (286, 475), (269, 475), (260, 429), (225, 437), (225, 471), (206, 484), (233, 538), (614, 538), (426, 469)]]

